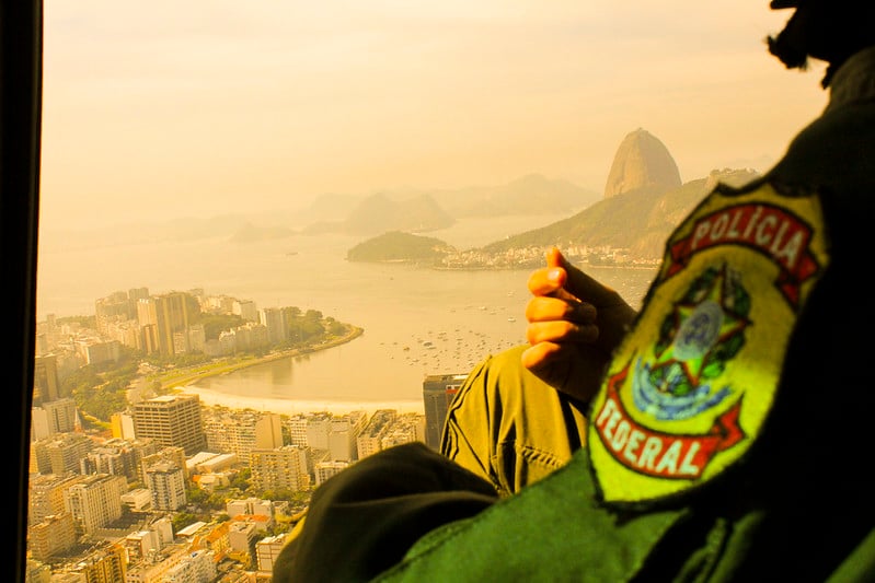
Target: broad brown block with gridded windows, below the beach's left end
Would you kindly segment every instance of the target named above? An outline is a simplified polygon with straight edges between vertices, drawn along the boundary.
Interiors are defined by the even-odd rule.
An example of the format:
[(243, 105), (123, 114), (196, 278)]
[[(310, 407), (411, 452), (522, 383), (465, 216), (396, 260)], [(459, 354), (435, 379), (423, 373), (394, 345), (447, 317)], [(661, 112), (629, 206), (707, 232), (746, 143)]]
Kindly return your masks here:
[(207, 438), (197, 395), (165, 395), (137, 403), (131, 408), (137, 439), (182, 447), (186, 455), (206, 448)]

